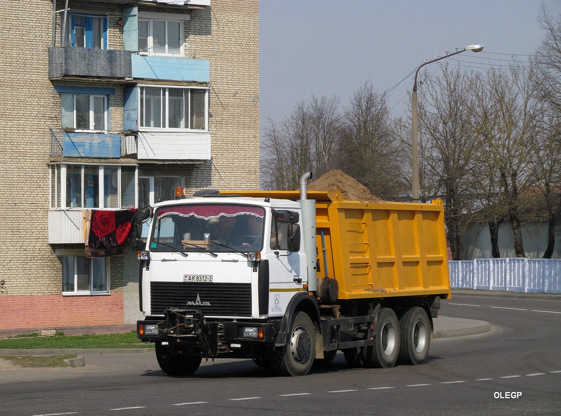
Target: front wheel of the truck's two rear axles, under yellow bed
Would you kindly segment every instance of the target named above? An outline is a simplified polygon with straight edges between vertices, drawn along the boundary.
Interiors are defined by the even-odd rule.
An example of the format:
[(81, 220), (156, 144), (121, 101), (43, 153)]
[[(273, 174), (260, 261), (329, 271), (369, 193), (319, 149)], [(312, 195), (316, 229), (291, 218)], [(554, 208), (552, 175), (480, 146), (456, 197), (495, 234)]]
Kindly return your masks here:
[(392, 368), (399, 355), (400, 327), (396, 313), (382, 308), (374, 329), (374, 345), (362, 347), (362, 361), (366, 368)]

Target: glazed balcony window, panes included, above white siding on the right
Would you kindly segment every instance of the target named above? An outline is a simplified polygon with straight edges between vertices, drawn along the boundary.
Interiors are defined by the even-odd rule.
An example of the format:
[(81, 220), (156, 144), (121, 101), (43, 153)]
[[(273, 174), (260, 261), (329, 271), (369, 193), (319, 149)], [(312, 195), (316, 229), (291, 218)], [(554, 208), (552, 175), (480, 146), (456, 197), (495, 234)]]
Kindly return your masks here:
[(207, 91), (140, 86), (140, 127), (208, 130)]

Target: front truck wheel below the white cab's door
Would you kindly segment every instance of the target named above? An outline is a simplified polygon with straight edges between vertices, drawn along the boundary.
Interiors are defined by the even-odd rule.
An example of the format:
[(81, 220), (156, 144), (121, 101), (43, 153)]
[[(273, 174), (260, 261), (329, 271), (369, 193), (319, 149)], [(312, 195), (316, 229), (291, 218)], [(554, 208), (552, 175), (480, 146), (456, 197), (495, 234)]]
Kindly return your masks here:
[(289, 334), (288, 344), (272, 354), (273, 368), (283, 376), (305, 376), (315, 358), (314, 323), (305, 312), (298, 311)]

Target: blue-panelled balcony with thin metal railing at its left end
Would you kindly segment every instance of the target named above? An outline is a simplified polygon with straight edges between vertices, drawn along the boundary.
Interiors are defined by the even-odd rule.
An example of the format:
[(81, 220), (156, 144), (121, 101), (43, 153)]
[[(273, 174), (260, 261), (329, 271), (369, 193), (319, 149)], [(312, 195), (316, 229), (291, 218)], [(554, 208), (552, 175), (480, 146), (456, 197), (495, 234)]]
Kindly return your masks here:
[(65, 158), (120, 158), (121, 135), (50, 129), (50, 155)]

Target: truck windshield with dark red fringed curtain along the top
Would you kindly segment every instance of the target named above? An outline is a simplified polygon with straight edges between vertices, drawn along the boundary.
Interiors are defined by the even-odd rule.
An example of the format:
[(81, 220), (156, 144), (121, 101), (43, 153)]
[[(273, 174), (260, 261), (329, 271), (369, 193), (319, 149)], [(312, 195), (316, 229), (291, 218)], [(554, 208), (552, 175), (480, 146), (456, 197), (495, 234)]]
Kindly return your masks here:
[(260, 251), (265, 210), (232, 204), (189, 204), (160, 207), (154, 212), (151, 251)]

